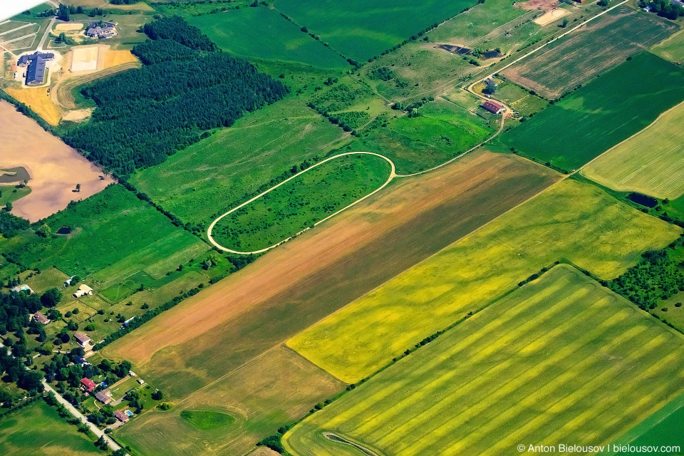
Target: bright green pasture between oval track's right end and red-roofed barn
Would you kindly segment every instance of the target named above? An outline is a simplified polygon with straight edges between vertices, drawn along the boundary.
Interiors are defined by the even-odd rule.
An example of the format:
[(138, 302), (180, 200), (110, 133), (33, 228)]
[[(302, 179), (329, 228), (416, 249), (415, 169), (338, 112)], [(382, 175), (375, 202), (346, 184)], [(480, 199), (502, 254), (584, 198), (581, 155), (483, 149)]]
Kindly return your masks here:
[(494, 133), (486, 119), (446, 100), (427, 103), (418, 113), (390, 120), (354, 142), (351, 150), (383, 154), (398, 174), (410, 174), (440, 165)]

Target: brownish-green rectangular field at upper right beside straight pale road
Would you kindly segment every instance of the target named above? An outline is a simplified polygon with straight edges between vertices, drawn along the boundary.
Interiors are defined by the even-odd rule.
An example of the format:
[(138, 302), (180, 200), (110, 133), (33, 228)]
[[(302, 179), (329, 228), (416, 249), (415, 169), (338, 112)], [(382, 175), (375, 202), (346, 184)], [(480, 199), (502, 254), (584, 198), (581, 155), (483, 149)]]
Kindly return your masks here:
[(503, 74), (544, 98), (559, 98), (677, 29), (675, 24), (655, 14), (622, 6), (591, 21), (586, 30), (574, 31), (549, 44), (531, 58), (507, 68)]

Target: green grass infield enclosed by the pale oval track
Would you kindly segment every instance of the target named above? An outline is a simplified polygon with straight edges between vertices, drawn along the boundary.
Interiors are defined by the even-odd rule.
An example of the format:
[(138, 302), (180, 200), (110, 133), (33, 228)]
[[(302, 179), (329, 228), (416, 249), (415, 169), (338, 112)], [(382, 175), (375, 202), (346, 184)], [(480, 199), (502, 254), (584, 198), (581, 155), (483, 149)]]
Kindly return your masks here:
[(266, 249), (383, 185), (390, 164), (375, 155), (338, 157), (222, 218), (212, 237), (239, 252)]

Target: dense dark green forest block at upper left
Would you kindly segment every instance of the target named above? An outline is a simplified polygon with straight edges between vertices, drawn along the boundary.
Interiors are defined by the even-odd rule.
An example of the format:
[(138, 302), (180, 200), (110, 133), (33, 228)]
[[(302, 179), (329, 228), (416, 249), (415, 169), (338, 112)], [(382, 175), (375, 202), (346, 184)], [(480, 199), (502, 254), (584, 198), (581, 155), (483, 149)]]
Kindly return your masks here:
[(145, 33), (153, 41), (133, 51), (145, 66), (83, 88), (98, 108), (89, 123), (63, 136), (115, 175), (157, 165), (288, 91), (244, 59), (215, 51), (183, 19), (157, 19)]

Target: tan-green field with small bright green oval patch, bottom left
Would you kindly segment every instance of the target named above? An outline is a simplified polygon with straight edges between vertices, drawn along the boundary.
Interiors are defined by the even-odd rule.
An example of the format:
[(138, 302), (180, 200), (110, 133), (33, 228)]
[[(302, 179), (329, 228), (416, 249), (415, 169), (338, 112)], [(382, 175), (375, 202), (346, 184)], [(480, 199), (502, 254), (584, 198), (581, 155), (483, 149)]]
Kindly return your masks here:
[[(175, 403), (172, 410), (145, 413), (121, 428), (116, 437), (146, 456), (244, 455), (264, 435), (345, 387), (279, 346)], [(183, 410), (228, 413), (235, 422), (218, 430), (199, 430), (180, 417)]]

